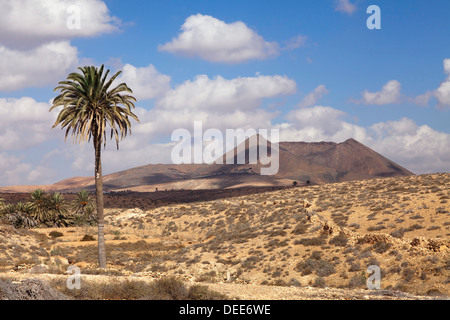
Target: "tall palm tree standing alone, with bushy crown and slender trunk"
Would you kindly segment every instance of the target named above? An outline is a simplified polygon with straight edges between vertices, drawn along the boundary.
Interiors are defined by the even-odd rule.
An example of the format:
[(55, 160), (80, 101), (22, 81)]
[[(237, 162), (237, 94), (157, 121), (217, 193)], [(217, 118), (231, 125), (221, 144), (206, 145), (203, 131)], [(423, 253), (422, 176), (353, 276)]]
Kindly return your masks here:
[(93, 140), (95, 151), (95, 189), (98, 219), (98, 262), (100, 268), (106, 268), (106, 250), (104, 238), (103, 213), (103, 180), (101, 147), (106, 146), (106, 130), (111, 130), (111, 139), (116, 140), (119, 149), (119, 140), (131, 133), (129, 117), (139, 122), (131, 111), (136, 99), (129, 95), (133, 91), (125, 83), (110, 89), (114, 80), (121, 71), (114, 74), (109, 80), (109, 70), (103, 74), (104, 66), (78, 68), (80, 73), (71, 73), (67, 80), (59, 82), (55, 91), (60, 94), (53, 101), (52, 111), (63, 107), (56, 119), (53, 128), (61, 125), (66, 129), (67, 136), (71, 133), (76, 143)]

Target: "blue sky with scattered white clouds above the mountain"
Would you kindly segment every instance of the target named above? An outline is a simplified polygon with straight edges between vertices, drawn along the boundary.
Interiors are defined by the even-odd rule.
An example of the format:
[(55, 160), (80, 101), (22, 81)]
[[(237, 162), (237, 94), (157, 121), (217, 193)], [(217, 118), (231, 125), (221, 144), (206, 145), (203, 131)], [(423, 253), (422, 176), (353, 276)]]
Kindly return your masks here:
[(104, 174), (171, 163), (172, 132), (194, 121), (353, 138), (450, 172), (449, 13), (448, 0), (0, 0), (0, 186), (93, 175), (92, 143), (65, 141), (49, 109), (59, 81), (102, 64), (140, 120), (119, 150), (108, 141)]

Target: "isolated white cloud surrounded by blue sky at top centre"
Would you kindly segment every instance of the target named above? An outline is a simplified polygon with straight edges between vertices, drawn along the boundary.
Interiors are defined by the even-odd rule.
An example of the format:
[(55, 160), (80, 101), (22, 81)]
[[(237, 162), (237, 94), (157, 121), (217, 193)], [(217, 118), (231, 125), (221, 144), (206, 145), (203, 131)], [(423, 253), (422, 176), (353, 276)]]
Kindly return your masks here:
[(202, 14), (188, 17), (181, 26), (178, 37), (158, 48), (161, 51), (224, 63), (267, 59), (279, 53), (276, 42), (265, 41), (245, 23), (225, 23)]

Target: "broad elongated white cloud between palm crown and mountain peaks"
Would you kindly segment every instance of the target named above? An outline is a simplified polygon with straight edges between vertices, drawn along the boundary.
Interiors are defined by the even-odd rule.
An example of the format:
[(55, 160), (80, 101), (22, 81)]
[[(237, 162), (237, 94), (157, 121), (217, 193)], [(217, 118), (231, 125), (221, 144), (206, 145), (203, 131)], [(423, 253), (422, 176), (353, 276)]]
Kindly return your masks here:
[(264, 110), (263, 100), (295, 91), (295, 81), (279, 75), (234, 79), (198, 75), (157, 98), (154, 109), (136, 110), (141, 123), (134, 132), (167, 135), (178, 128), (190, 130), (194, 121), (219, 129), (266, 128), (276, 113)]

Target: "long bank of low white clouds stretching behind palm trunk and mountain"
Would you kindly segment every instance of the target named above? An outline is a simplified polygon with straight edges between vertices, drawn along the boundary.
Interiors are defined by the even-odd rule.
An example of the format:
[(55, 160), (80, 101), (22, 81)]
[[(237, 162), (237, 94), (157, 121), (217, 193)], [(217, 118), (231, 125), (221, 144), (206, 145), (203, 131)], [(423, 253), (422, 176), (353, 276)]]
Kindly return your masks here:
[[(318, 87), (311, 93), (322, 92)], [(156, 98), (155, 108), (137, 108), (140, 123), (133, 123), (133, 135), (121, 145), (105, 150), (105, 170), (115, 172), (148, 163), (170, 163), (173, 143), (160, 142), (178, 128), (193, 132), (193, 122), (202, 121), (204, 130), (218, 128), (278, 128), (281, 141), (334, 141), (354, 138), (415, 173), (448, 171), (450, 134), (417, 125), (412, 119), (386, 121), (363, 127), (351, 116), (330, 106), (304, 102), (289, 112), (285, 122), (274, 124), (277, 112), (262, 108), (265, 98), (288, 95), (295, 82), (281, 76), (224, 79), (200, 75)], [(245, 102), (245, 103), (243, 103)], [(90, 148), (73, 152), (73, 169), (92, 171)], [(106, 159), (106, 158), (105, 158)], [(126, 166), (126, 167), (124, 167)], [(84, 168), (84, 169), (83, 169)]]

